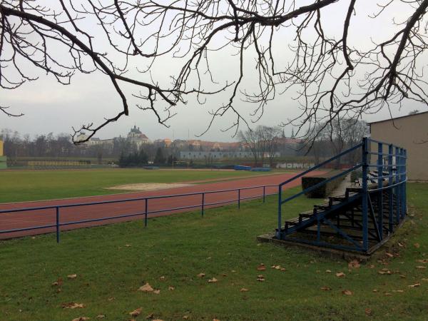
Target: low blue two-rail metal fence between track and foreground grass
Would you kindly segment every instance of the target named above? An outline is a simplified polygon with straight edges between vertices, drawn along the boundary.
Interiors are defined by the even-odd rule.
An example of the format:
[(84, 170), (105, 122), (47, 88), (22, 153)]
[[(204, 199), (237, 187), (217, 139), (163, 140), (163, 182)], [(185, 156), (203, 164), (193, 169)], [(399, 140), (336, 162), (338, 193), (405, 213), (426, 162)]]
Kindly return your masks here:
[[(268, 191), (267, 189), (272, 189), (272, 193)], [(250, 195), (245, 196), (243, 195), (243, 192), (247, 190), (258, 190), (260, 191), (256, 195)], [(60, 234), (61, 234), (61, 227), (62, 226), (70, 226), (70, 225), (78, 225), (83, 223), (95, 223), (95, 222), (101, 222), (106, 220), (115, 220), (115, 219), (123, 219), (123, 218), (133, 218), (141, 216), (144, 220), (144, 226), (147, 227), (148, 225), (148, 218), (150, 218), (151, 215), (159, 214), (159, 213), (166, 213), (166, 212), (175, 212), (183, 211), (186, 209), (192, 209), (192, 208), (200, 208), (200, 215), (203, 216), (205, 213), (206, 208), (213, 208), (217, 207), (219, 205), (225, 205), (225, 204), (231, 204), (231, 203), (238, 203), (238, 208), (240, 208), (240, 203), (243, 200), (249, 200), (254, 198), (262, 198), (263, 203), (265, 203), (265, 198), (267, 195), (274, 195), (276, 194), (277, 185), (257, 185), (257, 186), (250, 186), (245, 188), (233, 188), (233, 189), (226, 189), (226, 190), (210, 190), (210, 191), (204, 191), (204, 192), (197, 192), (197, 193), (183, 193), (183, 194), (174, 194), (174, 195), (159, 195), (159, 196), (147, 196), (147, 197), (141, 197), (141, 198), (128, 198), (128, 199), (121, 199), (121, 200), (106, 200), (101, 202), (91, 202), (91, 203), (71, 203), (71, 204), (63, 204), (63, 205), (46, 205), (46, 206), (38, 206), (38, 207), (31, 207), (31, 208), (12, 208), (7, 210), (0, 210), (0, 215), (10, 214), (10, 213), (36, 213), (37, 211), (41, 210), (54, 210), (55, 218), (52, 220), (52, 223), (44, 224), (44, 225), (31, 225), (26, 226), (24, 228), (12, 228), (7, 230), (0, 230), (0, 235), (9, 234), (11, 238), (13, 238), (13, 235), (17, 235), (19, 232), (24, 231), (30, 231), (30, 230), (42, 230), (47, 228), (54, 228), (56, 233), (56, 242), (59, 243), (60, 241)], [(221, 200), (217, 202), (210, 202), (207, 201), (207, 195), (214, 195), (219, 193), (233, 193), (236, 192), (235, 198), (228, 199), (228, 200)], [(192, 204), (192, 205), (185, 205), (185, 206), (176, 206), (173, 208), (162, 208), (159, 210), (149, 210), (151, 203), (153, 203), (154, 200), (163, 200), (163, 199), (176, 199), (176, 198), (185, 198), (185, 197), (200, 197), (198, 203)], [(130, 203), (135, 201), (143, 201), (143, 205), (141, 206), (142, 210), (138, 211), (136, 213), (128, 213), (128, 214), (121, 214), (121, 215), (113, 215), (113, 216), (103, 216), (101, 218), (88, 218), (85, 220), (71, 220), (71, 221), (61, 221), (61, 210), (64, 210), (66, 208), (78, 208), (78, 207), (90, 207), (93, 205), (112, 205), (112, 204), (124, 204), (124, 203)], [(108, 209), (106, 209), (108, 210)], [(44, 213), (46, 215), (46, 213)], [(53, 231), (51, 231), (53, 232)], [(17, 235), (22, 236), (22, 235)]]

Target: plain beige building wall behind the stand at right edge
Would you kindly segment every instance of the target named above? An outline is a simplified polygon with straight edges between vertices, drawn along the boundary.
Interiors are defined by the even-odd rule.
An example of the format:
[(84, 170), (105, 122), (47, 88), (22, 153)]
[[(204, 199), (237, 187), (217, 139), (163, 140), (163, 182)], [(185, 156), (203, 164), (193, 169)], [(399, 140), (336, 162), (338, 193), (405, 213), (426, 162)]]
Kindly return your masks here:
[[(369, 123), (371, 138), (407, 149), (409, 180), (428, 180), (427, 124), (428, 111)], [(387, 151), (387, 146), (384, 150)]]

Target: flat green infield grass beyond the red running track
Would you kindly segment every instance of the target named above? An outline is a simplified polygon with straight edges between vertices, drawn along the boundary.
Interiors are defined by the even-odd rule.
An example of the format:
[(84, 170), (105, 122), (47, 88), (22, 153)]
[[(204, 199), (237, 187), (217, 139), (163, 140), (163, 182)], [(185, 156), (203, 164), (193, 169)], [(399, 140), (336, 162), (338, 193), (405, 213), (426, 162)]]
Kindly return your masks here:
[(243, 178), (260, 172), (228, 170), (7, 170), (0, 171), (0, 203), (121, 193), (106, 190), (132, 183), (178, 183)]

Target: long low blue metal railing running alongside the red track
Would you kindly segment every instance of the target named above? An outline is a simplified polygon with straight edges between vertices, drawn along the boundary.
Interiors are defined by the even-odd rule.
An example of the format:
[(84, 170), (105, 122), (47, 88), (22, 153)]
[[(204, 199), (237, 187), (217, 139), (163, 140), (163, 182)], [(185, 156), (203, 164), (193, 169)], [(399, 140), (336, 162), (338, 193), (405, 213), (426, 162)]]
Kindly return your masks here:
[[(56, 242), (59, 243), (60, 241), (60, 234), (61, 234), (61, 226), (66, 225), (75, 225), (80, 223), (91, 223), (91, 222), (99, 222), (103, 220), (113, 220), (116, 218), (132, 218), (134, 216), (142, 216), (144, 218), (144, 226), (147, 227), (148, 225), (148, 219), (151, 214), (156, 213), (164, 213), (164, 212), (170, 212), (173, 210), (183, 210), (183, 209), (190, 209), (190, 208), (200, 208), (200, 215), (203, 217), (205, 214), (205, 209), (207, 206), (215, 207), (215, 205), (224, 205), (224, 204), (230, 204), (237, 202), (238, 208), (240, 208), (240, 203), (242, 200), (250, 200), (255, 198), (263, 198), (263, 203), (265, 203), (265, 198), (267, 195), (276, 195), (275, 193), (266, 193), (266, 188), (268, 187), (277, 187), (277, 185), (257, 185), (257, 186), (250, 186), (247, 188), (233, 188), (233, 189), (227, 189), (227, 190), (208, 190), (206, 192), (198, 192), (198, 193), (184, 193), (184, 194), (174, 194), (174, 195), (160, 195), (160, 196), (149, 196), (145, 198), (128, 198), (125, 200), (106, 200), (103, 202), (92, 202), (92, 203), (73, 203), (73, 204), (67, 204), (67, 205), (49, 205), (49, 206), (39, 206), (39, 207), (33, 207), (33, 208), (14, 208), (10, 210), (0, 210), (0, 215), (4, 213), (17, 213), (17, 212), (31, 212), (34, 210), (48, 210), (53, 209), (56, 213), (56, 219), (55, 224), (49, 224), (49, 225), (38, 225), (38, 226), (31, 226), (29, 228), (15, 228), (11, 230), (0, 230), (0, 235), (5, 233), (16, 233), (26, 230), (40, 230), (42, 228), (55, 228), (56, 233)], [(255, 196), (248, 196), (248, 197), (241, 197), (241, 190), (252, 190), (252, 189), (260, 189), (262, 193), (260, 195)], [(205, 203), (205, 195), (206, 194), (213, 194), (213, 193), (225, 193), (225, 192), (238, 192), (238, 198), (234, 198), (231, 200), (224, 200), (221, 202), (214, 202), (214, 203)], [(149, 200), (156, 200), (161, 198), (178, 198), (178, 197), (185, 197), (185, 196), (192, 196), (192, 195), (201, 195), (201, 203), (195, 204), (195, 205), (188, 205), (188, 206), (181, 206), (178, 208), (165, 208), (163, 210), (148, 210)], [(81, 206), (90, 206), (90, 205), (100, 205), (100, 204), (112, 204), (112, 203), (127, 203), (127, 202), (133, 202), (137, 200), (143, 200), (144, 201), (144, 211), (138, 212), (138, 213), (132, 213), (132, 214), (126, 214), (126, 215), (116, 215), (116, 216), (108, 216), (104, 218), (93, 218), (90, 220), (76, 220), (72, 222), (65, 222), (61, 223), (61, 208), (74, 208), (74, 207), (81, 207)]]

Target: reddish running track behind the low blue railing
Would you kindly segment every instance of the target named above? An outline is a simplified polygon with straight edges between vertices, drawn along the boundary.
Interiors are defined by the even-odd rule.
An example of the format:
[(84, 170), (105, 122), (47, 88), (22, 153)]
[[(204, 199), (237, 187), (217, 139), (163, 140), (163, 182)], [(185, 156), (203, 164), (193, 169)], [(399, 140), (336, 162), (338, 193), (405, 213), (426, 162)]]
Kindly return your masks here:
[[(322, 172), (313, 171), (310, 175), (317, 175)], [(84, 198), (67, 198), (63, 200), (43, 200), (34, 202), (24, 203), (4, 203), (0, 204), (0, 210), (9, 210), (15, 208), (34, 208), (41, 206), (50, 205), (66, 205), (73, 203), (93, 203), (101, 202), (106, 200), (125, 200), (132, 198), (143, 198), (147, 196), (159, 196), (159, 195), (177, 195), (184, 193), (199, 193), (203, 191), (211, 190), (226, 190), (235, 188), (246, 188), (251, 186), (259, 185), (278, 185), (283, 181), (292, 178), (296, 173), (285, 173), (278, 175), (262, 175), (255, 176), (253, 178), (244, 178), (238, 180), (229, 180), (218, 183), (205, 183), (198, 185), (190, 185), (183, 188), (170, 188), (165, 190), (153, 190), (148, 192), (136, 192), (136, 193), (125, 193), (116, 195), (101, 195), (91, 196)], [(284, 186), (286, 188), (292, 188), (300, 185), (300, 178)], [(277, 186), (267, 187), (265, 190), (266, 194), (277, 193)], [(263, 195), (263, 188), (255, 188), (250, 190), (241, 190), (240, 198), (249, 198), (252, 196)], [(229, 191), (221, 193), (210, 193), (205, 194), (204, 203), (217, 203), (217, 202), (230, 202), (235, 203), (238, 198), (238, 191)], [(202, 196), (201, 195), (188, 195), (174, 198), (160, 198), (149, 200), (148, 212), (157, 210), (167, 210), (169, 208), (178, 208), (190, 205), (199, 205), (199, 207), (183, 209), (183, 210), (168, 210), (163, 213), (153, 213), (149, 217), (170, 215), (173, 213), (185, 212), (189, 210), (200, 210)], [(205, 208), (214, 207), (206, 206)], [(60, 222), (67, 223), (78, 220), (89, 220), (94, 218), (103, 218), (108, 216), (116, 215), (127, 215), (133, 213), (143, 213), (145, 210), (144, 200), (133, 200), (123, 203), (110, 203), (110, 204), (98, 204), (98, 205), (86, 205), (72, 208), (61, 208), (60, 209)], [(98, 222), (90, 223), (78, 223), (76, 225), (65, 225), (61, 226), (62, 230), (71, 230), (75, 228), (87, 228), (93, 225), (111, 224), (117, 222), (123, 222), (128, 220), (142, 220), (144, 215), (134, 216), (131, 218), (116, 218), (112, 220), (103, 220)], [(49, 208), (44, 210), (33, 210), (27, 212), (15, 212), (15, 213), (0, 213), (0, 230), (12, 230), (16, 228), (29, 228), (40, 225), (51, 225), (56, 222), (56, 210), (55, 208)], [(150, 225), (150, 223), (149, 223)], [(26, 230), (14, 233), (3, 233), (0, 234), (0, 239), (4, 238), (16, 238), (24, 235), (37, 235), (43, 233), (54, 232), (55, 228), (40, 228), (38, 230)]]

